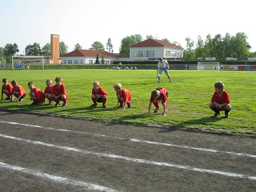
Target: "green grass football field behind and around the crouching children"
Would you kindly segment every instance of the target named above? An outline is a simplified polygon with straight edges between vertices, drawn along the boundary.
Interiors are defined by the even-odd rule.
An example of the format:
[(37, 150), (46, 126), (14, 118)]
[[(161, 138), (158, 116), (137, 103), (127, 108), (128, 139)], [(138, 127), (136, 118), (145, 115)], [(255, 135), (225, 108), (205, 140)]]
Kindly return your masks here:
[[(9, 103), (0, 101), (1, 108), (13, 110), (36, 111), (42, 113), (61, 114), (67, 116), (86, 117), (102, 121), (117, 120), (124, 123), (158, 124), (164, 127), (182, 127), (218, 132), (256, 134), (256, 73), (250, 71), (194, 71), (170, 70), (173, 84), (168, 83), (166, 75), (162, 75), (157, 84), (156, 70), (104, 70), (104, 69), (72, 69), (72, 70), (25, 70), (0, 71), (0, 77), (9, 82), (17, 80), (27, 93), (28, 82), (33, 81), (36, 87), (44, 91), (45, 81), (56, 76), (63, 78), (68, 93), (67, 107), (52, 105), (30, 106), (27, 96), (23, 102)], [(92, 83), (99, 81), (100, 86), (108, 92), (107, 108), (90, 108), (92, 104)], [(218, 117), (208, 107), (214, 92), (214, 83), (222, 81), (228, 91), (232, 110), (230, 118), (225, 119), (224, 111)], [(115, 83), (132, 93), (132, 108), (121, 110), (117, 104)], [(150, 93), (157, 87), (164, 87), (169, 92), (168, 113), (161, 116), (163, 107), (158, 113), (148, 116)], [(5, 98), (5, 96), (4, 96)], [(48, 103), (46, 101), (46, 103)], [(152, 105), (152, 109), (154, 106)]]

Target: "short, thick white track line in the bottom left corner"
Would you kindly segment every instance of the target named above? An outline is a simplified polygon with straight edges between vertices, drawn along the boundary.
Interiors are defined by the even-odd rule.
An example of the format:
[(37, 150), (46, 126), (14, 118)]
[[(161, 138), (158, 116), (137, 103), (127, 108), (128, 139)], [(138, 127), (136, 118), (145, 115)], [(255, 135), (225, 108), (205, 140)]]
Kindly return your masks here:
[(26, 174), (29, 174), (29, 175), (34, 175), (34, 176), (42, 178), (42, 179), (53, 180), (53, 181), (58, 182), (58, 183), (64, 183), (64, 184), (68, 184), (68, 185), (72, 185), (72, 186), (85, 187), (86, 189), (89, 189), (89, 190), (117, 192), (117, 190), (102, 187), (100, 185), (94, 185), (94, 184), (91, 184), (91, 183), (85, 183), (83, 181), (76, 181), (76, 180), (71, 180), (71, 179), (68, 179), (68, 178), (65, 178), (65, 177), (58, 177), (58, 176), (54, 176), (54, 175), (49, 175), (49, 174), (46, 174), (46, 173), (37, 172), (35, 170), (26, 169), (24, 167), (18, 167), (18, 166), (14, 166), (14, 165), (9, 165), (9, 164), (5, 164), (5, 163), (2, 163), (2, 162), (0, 162), (0, 167), (3, 167), (3, 168), (8, 169), (8, 170), (23, 172), (23, 173), (26, 173)]

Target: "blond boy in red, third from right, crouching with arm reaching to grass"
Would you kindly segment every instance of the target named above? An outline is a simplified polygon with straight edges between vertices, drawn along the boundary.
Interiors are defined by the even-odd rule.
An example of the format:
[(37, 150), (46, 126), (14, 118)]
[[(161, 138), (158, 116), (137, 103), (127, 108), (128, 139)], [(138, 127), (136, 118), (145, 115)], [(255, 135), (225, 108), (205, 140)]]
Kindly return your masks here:
[[(128, 108), (131, 108), (131, 99), (132, 95), (127, 89), (122, 89), (122, 85), (120, 83), (114, 84), (114, 89), (116, 91), (116, 97), (118, 103), (120, 105), (117, 108), (125, 108), (125, 104), (127, 103)], [(117, 104), (118, 105), (118, 104)]]

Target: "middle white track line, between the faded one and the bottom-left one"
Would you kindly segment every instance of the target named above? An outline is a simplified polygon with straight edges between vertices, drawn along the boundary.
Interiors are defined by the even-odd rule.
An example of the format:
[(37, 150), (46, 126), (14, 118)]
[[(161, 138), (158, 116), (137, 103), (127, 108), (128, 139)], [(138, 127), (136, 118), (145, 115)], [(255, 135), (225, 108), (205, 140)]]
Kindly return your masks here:
[(96, 155), (96, 156), (109, 157), (109, 158), (113, 158), (113, 159), (122, 159), (122, 160), (137, 162), (137, 163), (146, 163), (146, 164), (151, 164), (151, 165), (174, 167), (174, 168), (186, 169), (186, 170), (190, 170), (190, 171), (206, 172), (206, 173), (226, 175), (229, 177), (238, 177), (238, 178), (256, 180), (256, 176), (247, 176), (247, 175), (241, 175), (241, 174), (236, 174), (236, 173), (221, 172), (221, 171), (216, 171), (216, 170), (212, 170), (212, 169), (201, 169), (201, 168), (195, 168), (195, 167), (191, 167), (191, 166), (183, 166), (183, 165), (169, 164), (169, 163), (156, 162), (156, 161), (148, 161), (148, 160), (144, 160), (144, 159), (135, 159), (135, 158), (131, 158), (131, 157), (124, 157), (124, 156), (111, 155), (111, 154), (105, 154), (105, 153), (98, 153), (98, 152), (86, 151), (83, 149), (76, 149), (76, 148), (71, 148), (71, 147), (43, 143), (40, 141), (26, 140), (26, 139), (12, 137), (12, 136), (8, 136), (8, 135), (2, 135), (2, 134), (0, 134), (0, 137), (13, 139), (13, 140), (19, 140), (19, 141), (27, 142), (27, 143), (43, 145), (43, 146), (47, 146), (47, 147), (64, 149), (64, 150), (68, 150), (68, 151), (75, 151), (75, 152), (83, 153), (83, 154), (91, 154), (91, 155)]

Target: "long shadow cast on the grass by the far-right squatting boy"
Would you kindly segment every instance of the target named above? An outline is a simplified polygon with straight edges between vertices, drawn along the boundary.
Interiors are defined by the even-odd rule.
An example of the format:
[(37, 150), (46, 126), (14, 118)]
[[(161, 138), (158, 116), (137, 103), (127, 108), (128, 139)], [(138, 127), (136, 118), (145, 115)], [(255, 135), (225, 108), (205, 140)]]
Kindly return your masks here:
[(191, 119), (191, 120), (188, 120), (188, 121), (184, 121), (184, 122), (182, 122), (180, 124), (172, 125), (169, 128), (161, 130), (159, 132), (160, 133), (167, 133), (167, 132), (177, 131), (181, 127), (184, 127), (185, 125), (194, 125), (195, 129), (197, 129), (196, 125), (198, 125), (198, 124), (200, 124), (200, 125), (208, 125), (209, 123), (215, 123), (215, 122), (220, 121), (220, 120), (222, 120), (224, 118), (225, 117), (218, 118), (218, 117), (211, 116), (211, 117), (203, 117), (203, 118), (200, 118), (200, 119)]

